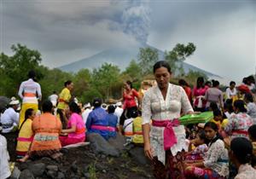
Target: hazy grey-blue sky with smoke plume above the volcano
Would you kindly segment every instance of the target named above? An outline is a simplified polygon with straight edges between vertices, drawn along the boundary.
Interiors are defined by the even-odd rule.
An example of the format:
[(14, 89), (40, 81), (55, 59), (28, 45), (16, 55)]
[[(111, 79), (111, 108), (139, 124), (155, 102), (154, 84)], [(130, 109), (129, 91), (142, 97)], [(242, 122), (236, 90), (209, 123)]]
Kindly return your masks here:
[(0, 0), (0, 11), (0, 51), (26, 44), (49, 67), (128, 43), (192, 42), (192, 65), (236, 81), (255, 72), (254, 0)]

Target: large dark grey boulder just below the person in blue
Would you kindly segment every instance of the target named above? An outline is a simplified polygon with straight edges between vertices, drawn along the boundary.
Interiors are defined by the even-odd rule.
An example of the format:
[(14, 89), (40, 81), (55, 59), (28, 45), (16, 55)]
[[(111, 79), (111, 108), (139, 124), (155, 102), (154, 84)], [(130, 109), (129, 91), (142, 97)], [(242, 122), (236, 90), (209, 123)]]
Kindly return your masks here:
[(90, 147), (94, 153), (103, 153), (113, 157), (119, 157), (119, 150), (113, 147), (100, 134), (91, 133), (87, 135), (87, 140), (90, 141)]

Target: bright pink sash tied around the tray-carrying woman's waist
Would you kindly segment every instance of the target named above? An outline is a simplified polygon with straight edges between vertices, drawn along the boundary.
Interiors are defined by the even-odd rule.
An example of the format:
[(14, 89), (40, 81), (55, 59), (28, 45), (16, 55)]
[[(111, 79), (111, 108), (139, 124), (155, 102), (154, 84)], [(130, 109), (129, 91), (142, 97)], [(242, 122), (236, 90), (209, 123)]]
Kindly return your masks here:
[(177, 138), (172, 127), (178, 126), (179, 120), (174, 118), (173, 120), (153, 120), (152, 125), (155, 127), (165, 127), (164, 130), (164, 148), (165, 150), (170, 149), (174, 144), (177, 143)]

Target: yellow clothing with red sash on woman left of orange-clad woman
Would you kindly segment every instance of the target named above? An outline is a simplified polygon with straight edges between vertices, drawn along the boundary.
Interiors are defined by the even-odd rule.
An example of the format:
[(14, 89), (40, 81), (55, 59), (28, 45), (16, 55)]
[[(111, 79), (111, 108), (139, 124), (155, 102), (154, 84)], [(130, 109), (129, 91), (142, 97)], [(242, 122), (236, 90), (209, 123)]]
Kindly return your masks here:
[(32, 142), (32, 136), (32, 119), (27, 118), (26, 122), (22, 125), (20, 129), (16, 151), (27, 152)]

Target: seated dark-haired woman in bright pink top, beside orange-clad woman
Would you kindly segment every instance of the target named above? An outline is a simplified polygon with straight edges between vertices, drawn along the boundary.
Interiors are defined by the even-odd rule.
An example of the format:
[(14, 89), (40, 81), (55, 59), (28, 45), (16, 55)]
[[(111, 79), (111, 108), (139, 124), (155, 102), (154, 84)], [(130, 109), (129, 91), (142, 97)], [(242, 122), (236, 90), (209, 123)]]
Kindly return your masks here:
[(62, 147), (85, 140), (85, 125), (80, 115), (81, 109), (74, 101), (68, 106), (71, 116), (67, 123), (67, 130), (61, 130), (61, 133), (68, 134), (67, 136), (60, 136)]

